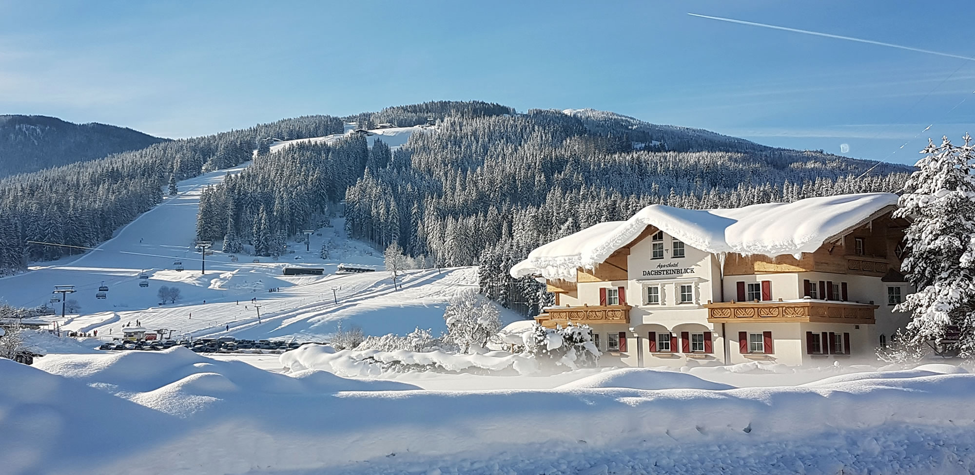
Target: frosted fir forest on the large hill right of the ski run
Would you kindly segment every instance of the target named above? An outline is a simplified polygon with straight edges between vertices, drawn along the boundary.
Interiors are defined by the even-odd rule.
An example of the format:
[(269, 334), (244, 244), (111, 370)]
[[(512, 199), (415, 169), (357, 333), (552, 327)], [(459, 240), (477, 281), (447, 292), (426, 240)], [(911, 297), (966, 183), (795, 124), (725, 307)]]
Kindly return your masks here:
[(544, 285), (507, 270), (543, 242), (651, 203), (711, 208), (893, 192), (909, 172), (881, 164), (861, 177), (873, 162), (591, 110), (515, 114), (498, 104), (430, 102), (355, 119), (363, 128), (436, 128), (395, 152), (381, 140), (368, 149), (352, 134), (262, 155), (205, 194), (200, 237), (273, 255), (344, 197), (352, 236), (395, 243), (429, 265), (479, 264), (485, 293), (531, 313), (548, 302)]

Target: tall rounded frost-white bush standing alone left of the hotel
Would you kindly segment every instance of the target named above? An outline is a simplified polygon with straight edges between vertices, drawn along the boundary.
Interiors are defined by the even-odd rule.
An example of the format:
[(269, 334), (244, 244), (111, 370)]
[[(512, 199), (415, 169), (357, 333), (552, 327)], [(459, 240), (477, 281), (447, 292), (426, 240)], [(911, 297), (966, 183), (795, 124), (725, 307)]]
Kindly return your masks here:
[(487, 342), (501, 329), (497, 307), (474, 290), (450, 299), (447, 311), (447, 341), (463, 352), (473, 345), (487, 347)]

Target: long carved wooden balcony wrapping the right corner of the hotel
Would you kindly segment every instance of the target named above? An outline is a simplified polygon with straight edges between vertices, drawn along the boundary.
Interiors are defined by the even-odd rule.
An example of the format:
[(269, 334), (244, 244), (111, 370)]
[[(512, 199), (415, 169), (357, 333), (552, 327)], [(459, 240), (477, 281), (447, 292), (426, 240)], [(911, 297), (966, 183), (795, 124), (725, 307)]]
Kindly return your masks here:
[(704, 306), (711, 323), (813, 322), (873, 325), (876, 305), (823, 300), (789, 302), (717, 302)]

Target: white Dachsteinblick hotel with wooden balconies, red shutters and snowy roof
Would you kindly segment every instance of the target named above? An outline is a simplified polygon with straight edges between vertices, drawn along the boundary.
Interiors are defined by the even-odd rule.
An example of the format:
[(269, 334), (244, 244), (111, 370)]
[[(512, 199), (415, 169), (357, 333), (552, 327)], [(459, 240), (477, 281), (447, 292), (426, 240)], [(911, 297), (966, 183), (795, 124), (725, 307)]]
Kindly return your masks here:
[(548, 327), (593, 328), (606, 365), (876, 359), (907, 324), (908, 222), (888, 193), (692, 210), (653, 204), (544, 244), (515, 265), (543, 278)]

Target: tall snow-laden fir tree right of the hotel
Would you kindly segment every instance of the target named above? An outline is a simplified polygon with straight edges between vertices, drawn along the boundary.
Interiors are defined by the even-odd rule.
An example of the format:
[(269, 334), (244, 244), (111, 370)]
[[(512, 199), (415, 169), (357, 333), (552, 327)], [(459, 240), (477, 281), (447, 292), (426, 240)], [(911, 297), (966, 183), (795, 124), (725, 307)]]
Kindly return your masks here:
[[(904, 186), (894, 217), (912, 221), (902, 271), (917, 292), (896, 311), (910, 311), (909, 338), (945, 352), (975, 355), (975, 173), (971, 136), (956, 146), (930, 140)], [(946, 338), (949, 337), (949, 338)], [(954, 340), (957, 341), (954, 342)]]

